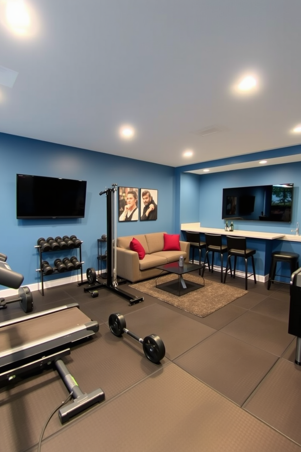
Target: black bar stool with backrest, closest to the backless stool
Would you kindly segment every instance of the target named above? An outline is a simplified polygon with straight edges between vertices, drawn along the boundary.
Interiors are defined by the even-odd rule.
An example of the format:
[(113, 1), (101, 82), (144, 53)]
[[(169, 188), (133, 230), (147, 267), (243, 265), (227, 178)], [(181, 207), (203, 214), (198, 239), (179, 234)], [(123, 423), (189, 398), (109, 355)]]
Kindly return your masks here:
[[(227, 266), (224, 278), (224, 284), (227, 278), (227, 271), (230, 265), (230, 273), (231, 273), (231, 256), (234, 256), (234, 268), (233, 268), (233, 278), (235, 278), (235, 270), (236, 270), (236, 260), (238, 257), (242, 257), (245, 259), (245, 290), (248, 290), (248, 278), (250, 276), (254, 276), (254, 282), (256, 284), (256, 275), (255, 275), (255, 264), (254, 264), (254, 254), (256, 250), (251, 250), (247, 248), (246, 238), (245, 237), (235, 237), (233, 235), (227, 235), (227, 247), (228, 247), (228, 258), (227, 258)], [(252, 268), (253, 273), (248, 276), (248, 258), (252, 259)], [(232, 276), (232, 275), (231, 275)]]

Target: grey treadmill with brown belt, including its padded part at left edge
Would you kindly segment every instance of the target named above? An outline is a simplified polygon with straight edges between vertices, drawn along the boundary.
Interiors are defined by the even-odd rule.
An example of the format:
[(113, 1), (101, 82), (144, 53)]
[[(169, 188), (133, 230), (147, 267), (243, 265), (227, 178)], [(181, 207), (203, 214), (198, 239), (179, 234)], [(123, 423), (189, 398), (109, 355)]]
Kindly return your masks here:
[[(23, 278), (19, 273), (7, 270), (9, 277), (0, 270), (0, 284), (9, 282), (16, 288)], [(83, 393), (62, 361), (70, 354), (72, 345), (98, 330), (98, 322), (83, 314), (77, 303), (0, 323), (0, 382), (9, 384), (18, 375), (54, 365), (73, 398), (71, 404), (59, 410), (60, 422), (64, 424), (105, 398), (101, 388)]]

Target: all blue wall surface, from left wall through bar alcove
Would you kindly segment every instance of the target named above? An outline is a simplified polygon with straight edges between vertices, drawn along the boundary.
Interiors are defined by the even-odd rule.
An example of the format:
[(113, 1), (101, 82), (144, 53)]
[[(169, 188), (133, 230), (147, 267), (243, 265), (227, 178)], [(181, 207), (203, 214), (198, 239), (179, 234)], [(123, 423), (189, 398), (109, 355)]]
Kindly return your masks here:
[[(300, 153), (300, 151), (301, 146), (292, 146), (252, 154), (251, 159), (275, 157), (285, 153), (289, 155)], [(181, 223), (186, 222), (201, 222), (205, 227), (223, 228), (222, 189), (261, 184), (294, 184), (292, 223), (236, 220), (234, 222), (236, 230), (291, 234), (296, 221), (301, 222), (299, 196), (301, 162), (197, 175), (183, 172), (195, 169), (196, 165), (175, 169), (142, 160), (127, 159), (4, 133), (0, 133), (0, 156), (0, 252), (8, 255), (8, 264), (11, 268), (24, 275), (24, 285), (40, 281), (39, 273), (36, 272), (39, 267), (38, 253), (34, 248), (39, 237), (77, 235), (80, 240), (83, 240), (84, 273), (88, 267), (97, 268), (97, 238), (107, 232), (106, 196), (99, 196), (99, 192), (105, 188), (111, 188), (114, 183), (125, 187), (158, 190), (158, 220), (117, 222), (117, 235), (137, 235), (155, 231), (176, 233)], [(244, 159), (249, 160), (250, 156), (207, 162), (204, 163), (204, 167), (227, 165), (244, 161)], [(85, 218), (17, 220), (17, 173), (87, 180)], [(273, 240), (269, 245), (269, 253), (276, 249), (294, 250), (301, 254), (301, 244), (296, 242)], [(261, 274), (266, 265), (264, 250), (261, 250), (260, 244), (258, 244), (258, 250), (256, 269)], [(62, 258), (64, 255), (66, 254), (62, 256), (53, 254), (52, 258)], [(51, 278), (58, 278), (58, 276), (47, 278), (47, 280)]]

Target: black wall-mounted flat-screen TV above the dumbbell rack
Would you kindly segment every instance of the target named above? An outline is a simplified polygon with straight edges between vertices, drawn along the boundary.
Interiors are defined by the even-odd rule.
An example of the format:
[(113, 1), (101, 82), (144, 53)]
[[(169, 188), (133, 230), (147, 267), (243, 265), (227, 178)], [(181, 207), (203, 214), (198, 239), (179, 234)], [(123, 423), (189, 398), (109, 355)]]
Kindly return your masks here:
[(83, 218), (85, 180), (17, 174), (17, 218)]

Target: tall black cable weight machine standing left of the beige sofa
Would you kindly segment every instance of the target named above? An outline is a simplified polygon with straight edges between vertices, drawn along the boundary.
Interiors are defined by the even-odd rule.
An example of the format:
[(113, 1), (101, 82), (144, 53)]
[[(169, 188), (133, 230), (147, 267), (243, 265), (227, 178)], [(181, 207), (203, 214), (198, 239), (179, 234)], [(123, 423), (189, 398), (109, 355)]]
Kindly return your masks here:
[[(88, 282), (91, 282), (88, 287), (84, 287), (84, 292), (90, 292), (93, 297), (97, 296), (96, 291), (106, 287), (117, 295), (129, 301), (129, 305), (133, 306), (144, 301), (144, 297), (134, 297), (133, 295), (121, 290), (118, 287), (117, 273), (116, 273), (116, 237), (117, 237), (117, 223), (116, 223), (116, 191), (117, 184), (112, 184), (112, 188), (106, 188), (100, 192), (100, 196), (107, 195), (107, 282), (98, 282), (96, 272), (93, 268), (88, 268), (87, 276)], [(89, 281), (90, 279), (90, 281)]]

